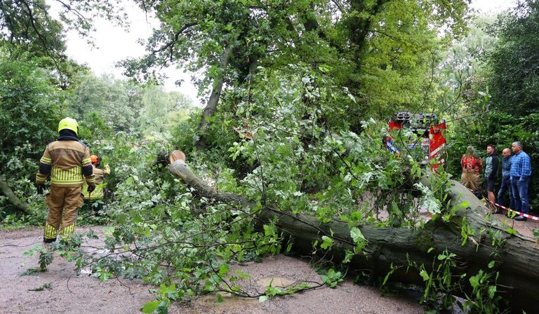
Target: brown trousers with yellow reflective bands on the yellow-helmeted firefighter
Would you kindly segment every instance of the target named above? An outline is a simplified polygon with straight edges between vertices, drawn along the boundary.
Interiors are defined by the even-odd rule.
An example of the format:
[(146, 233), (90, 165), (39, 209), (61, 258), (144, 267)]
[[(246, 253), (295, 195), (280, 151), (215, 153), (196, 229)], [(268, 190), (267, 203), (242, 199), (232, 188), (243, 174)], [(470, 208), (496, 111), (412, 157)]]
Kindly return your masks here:
[[(51, 186), (45, 204), (48, 207), (44, 242), (53, 242), (58, 233), (69, 238), (75, 231), (76, 214), (84, 200), (81, 186)], [(60, 228), (61, 224), (61, 228)]]

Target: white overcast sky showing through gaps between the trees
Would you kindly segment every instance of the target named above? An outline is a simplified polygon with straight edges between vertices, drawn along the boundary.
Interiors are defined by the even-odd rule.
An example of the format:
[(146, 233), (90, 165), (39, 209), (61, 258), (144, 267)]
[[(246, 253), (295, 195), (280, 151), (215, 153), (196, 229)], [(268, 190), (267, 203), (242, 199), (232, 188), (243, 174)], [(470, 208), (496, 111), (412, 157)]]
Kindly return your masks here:
[[(472, 0), (472, 8), (483, 13), (499, 13), (514, 6), (516, 2), (517, 0)], [(146, 39), (152, 34), (152, 22), (157, 26), (157, 22), (147, 21), (145, 13), (138, 6), (131, 4), (126, 7), (131, 22), (128, 32), (107, 20), (96, 20), (96, 31), (93, 33), (96, 48), (91, 49), (76, 32), (68, 32), (67, 55), (79, 63), (88, 64), (98, 76), (113, 74), (117, 78), (122, 78), (121, 69), (117, 69), (114, 64), (127, 57), (144, 55), (145, 48), (140, 46), (137, 40)], [(197, 88), (191, 83), (189, 74), (183, 73), (182, 69), (173, 68), (166, 70), (165, 73), (169, 76), (164, 84), (165, 90), (178, 90), (190, 97), (194, 104), (201, 105), (197, 97)], [(180, 87), (174, 84), (177, 80), (183, 80)]]

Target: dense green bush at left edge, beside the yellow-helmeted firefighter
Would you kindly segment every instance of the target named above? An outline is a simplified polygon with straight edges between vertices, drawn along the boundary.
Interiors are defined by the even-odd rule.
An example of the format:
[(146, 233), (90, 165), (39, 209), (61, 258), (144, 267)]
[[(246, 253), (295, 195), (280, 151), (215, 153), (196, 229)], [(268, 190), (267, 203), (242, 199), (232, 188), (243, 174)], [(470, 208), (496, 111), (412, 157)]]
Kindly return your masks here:
[[(18, 197), (38, 201), (31, 180), (37, 172), (36, 160), (44, 146), (57, 135), (62, 94), (49, 81), (47, 71), (32, 60), (0, 62), (0, 170)], [(39, 123), (36, 123), (39, 121)], [(11, 210), (0, 198), (2, 212)], [(36, 204), (35, 208), (44, 205)], [(31, 217), (39, 219), (41, 215)]]

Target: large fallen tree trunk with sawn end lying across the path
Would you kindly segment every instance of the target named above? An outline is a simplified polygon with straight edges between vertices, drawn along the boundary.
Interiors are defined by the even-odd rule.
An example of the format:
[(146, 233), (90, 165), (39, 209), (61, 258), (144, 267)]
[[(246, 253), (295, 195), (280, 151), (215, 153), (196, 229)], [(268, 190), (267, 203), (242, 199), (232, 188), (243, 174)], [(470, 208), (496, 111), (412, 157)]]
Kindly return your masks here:
[[(185, 161), (171, 158), (169, 169), (173, 175), (205, 196), (226, 203), (237, 203), (253, 207), (255, 202), (232, 193), (222, 193), (201, 181), (187, 167)], [(425, 176), (422, 182), (429, 184), (430, 179)], [(467, 273), (466, 284), (472, 275), (481, 269), (484, 271), (499, 271), (498, 292), (503, 299), (510, 303), (515, 313), (526, 310), (533, 313), (535, 310), (536, 293), (539, 291), (539, 268), (535, 263), (539, 261), (539, 249), (536, 243), (521, 235), (511, 235), (496, 223), (496, 219), (486, 215), (487, 209), (470, 191), (458, 182), (453, 182), (449, 198), (453, 204), (467, 202), (460, 207), (450, 221), (432, 219), (420, 230), (408, 228), (378, 228), (372, 225), (357, 226), (367, 240), (366, 254), (357, 254), (350, 261), (355, 269), (369, 269), (373, 273), (385, 276), (391, 271), (391, 279), (399, 282), (424, 285), (424, 281), (413, 268), (407, 270), (408, 261), (424, 265), (428, 272), (432, 271), (433, 260), (444, 251), (452, 252), (458, 257), (458, 268), (453, 269), (452, 275)], [(354, 247), (348, 223), (333, 220), (327, 224), (321, 223), (316, 217), (307, 214), (288, 214), (278, 210), (264, 207), (260, 210), (258, 218), (270, 221), (277, 218), (277, 226), (288, 233), (294, 243), (294, 249), (302, 254), (311, 254), (312, 243), (321, 236), (333, 238), (334, 245), (328, 257), (333, 260), (342, 260), (345, 249)], [(465, 226), (470, 234), (465, 245), (462, 230)], [(481, 233), (481, 230), (484, 232)], [(494, 232), (488, 233), (486, 231)], [(499, 231), (496, 233), (495, 231)], [(474, 235), (472, 235), (474, 232)], [(493, 245), (496, 243), (496, 245)], [(432, 252), (428, 252), (433, 248)], [(489, 269), (487, 265), (495, 261), (495, 266)], [(399, 267), (400, 266), (400, 267)], [(465, 291), (470, 291), (470, 286)]]

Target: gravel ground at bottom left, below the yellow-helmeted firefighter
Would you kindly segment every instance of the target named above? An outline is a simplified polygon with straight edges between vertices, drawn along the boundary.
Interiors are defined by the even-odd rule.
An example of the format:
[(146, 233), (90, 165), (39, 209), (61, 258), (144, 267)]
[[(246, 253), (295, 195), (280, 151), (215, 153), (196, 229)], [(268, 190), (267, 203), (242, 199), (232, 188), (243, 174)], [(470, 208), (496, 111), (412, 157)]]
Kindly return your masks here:
[[(77, 276), (73, 264), (58, 256), (48, 271), (21, 275), (38, 266), (36, 256), (22, 253), (40, 244), (42, 237), (41, 228), (0, 231), (0, 313), (138, 313), (142, 304), (152, 301), (149, 285)], [(29, 291), (46, 284), (51, 289)]]

